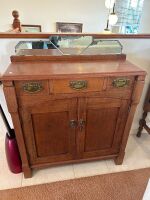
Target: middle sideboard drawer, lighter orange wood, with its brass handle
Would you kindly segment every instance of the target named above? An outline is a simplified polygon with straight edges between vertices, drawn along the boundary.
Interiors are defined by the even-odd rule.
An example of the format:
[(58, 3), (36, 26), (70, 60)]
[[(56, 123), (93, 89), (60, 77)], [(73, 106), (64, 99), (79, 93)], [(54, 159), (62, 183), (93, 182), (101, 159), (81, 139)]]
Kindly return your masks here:
[(99, 92), (104, 87), (104, 78), (61, 79), (52, 81), (52, 93)]

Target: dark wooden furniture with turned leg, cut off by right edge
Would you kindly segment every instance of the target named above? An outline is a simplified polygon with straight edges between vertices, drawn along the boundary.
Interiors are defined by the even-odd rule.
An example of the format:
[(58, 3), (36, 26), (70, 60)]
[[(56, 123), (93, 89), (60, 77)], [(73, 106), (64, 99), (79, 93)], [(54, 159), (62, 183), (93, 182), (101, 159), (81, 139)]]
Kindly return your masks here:
[(150, 127), (148, 127), (146, 124), (146, 117), (147, 117), (148, 112), (150, 112), (150, 85), (149, 85), (149, 89), (148, 89), (148, 93), (147, 93), (147, 97), (146, 97), (146, 100), (144, 103), (143, 110), (144, 110), (143, 117), (139, 122), (140, 126), (139, 126), (139, 129), (137, 132), (137, 137), (141, 137), (143, 128), (145, 128), (145, 130), (150, 134)]

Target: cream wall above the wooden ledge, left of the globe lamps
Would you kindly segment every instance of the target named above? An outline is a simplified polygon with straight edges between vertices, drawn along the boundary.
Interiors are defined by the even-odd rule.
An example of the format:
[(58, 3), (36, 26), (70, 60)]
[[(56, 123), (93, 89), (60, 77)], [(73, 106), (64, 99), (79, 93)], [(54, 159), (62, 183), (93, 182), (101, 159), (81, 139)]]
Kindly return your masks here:
[[(55, 22), (81, 22), (84, 32), (100, 32), (106, 26), (108, 10), (104, 0), (1, 0), (0, 31), (10, 28), (12, 10), (18, 10), (22, 24), (41, 24), (45, 32), (55, 31)], [(0, 17), (0, 18), (1, 18)]]

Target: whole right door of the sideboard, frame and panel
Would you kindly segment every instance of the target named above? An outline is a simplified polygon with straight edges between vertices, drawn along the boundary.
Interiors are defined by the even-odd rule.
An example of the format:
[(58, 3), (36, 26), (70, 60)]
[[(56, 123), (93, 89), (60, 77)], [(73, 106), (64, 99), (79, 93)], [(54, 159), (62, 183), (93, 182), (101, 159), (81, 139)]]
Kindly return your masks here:
[(78, 155), (88, 158), (119, 152), (128, 101), (112, 98), (79, 100)]

